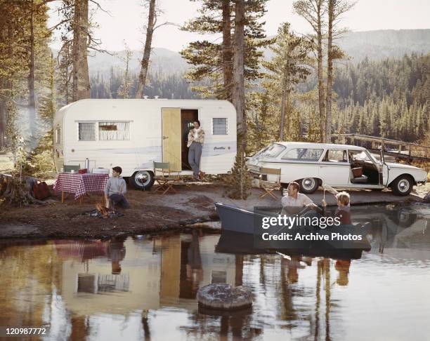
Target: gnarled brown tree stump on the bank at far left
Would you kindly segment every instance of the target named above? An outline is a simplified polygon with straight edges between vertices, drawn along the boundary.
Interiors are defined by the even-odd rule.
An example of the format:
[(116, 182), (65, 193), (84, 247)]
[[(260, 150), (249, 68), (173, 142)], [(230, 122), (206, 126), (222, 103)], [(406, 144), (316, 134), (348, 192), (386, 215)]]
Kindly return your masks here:
[(30, 204), (44, 204), (34, 198), (33, 185), (37, 179), (18, 175), (0, 174), (0, 203), (13, 206), (29, 206)]

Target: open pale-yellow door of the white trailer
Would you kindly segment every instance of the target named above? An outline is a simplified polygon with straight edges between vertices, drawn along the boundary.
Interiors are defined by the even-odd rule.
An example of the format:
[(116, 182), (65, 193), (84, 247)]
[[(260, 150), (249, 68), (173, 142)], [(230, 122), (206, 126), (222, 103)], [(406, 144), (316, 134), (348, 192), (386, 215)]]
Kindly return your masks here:
[(181, 108), (162, 109), (163, 162), (181, 170)]

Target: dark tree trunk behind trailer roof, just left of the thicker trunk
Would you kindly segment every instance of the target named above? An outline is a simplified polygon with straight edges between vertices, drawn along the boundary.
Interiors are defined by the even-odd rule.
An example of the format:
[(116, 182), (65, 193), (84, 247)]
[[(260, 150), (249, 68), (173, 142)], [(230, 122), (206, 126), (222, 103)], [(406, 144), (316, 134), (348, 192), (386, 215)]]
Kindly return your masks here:
[(230, 0), (223, 0), (223, 81), (226, 99), (231, 100), (231, 18)]

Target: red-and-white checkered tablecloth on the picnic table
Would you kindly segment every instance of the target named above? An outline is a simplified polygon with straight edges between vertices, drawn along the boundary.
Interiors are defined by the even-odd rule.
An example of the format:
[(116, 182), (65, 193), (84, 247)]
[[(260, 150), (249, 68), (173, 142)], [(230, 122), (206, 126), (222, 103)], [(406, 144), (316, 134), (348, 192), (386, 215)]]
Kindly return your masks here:
[(74, 193), (76, 200), (88, 192), (103, 192), (108, 179), (107, 174), (59, 173), (53, 190)]

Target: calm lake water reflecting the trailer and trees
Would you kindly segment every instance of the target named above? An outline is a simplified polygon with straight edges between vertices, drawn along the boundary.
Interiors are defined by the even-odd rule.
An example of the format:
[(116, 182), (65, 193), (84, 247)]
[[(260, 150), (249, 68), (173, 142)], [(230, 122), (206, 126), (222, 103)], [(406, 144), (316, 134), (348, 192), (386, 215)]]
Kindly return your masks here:
[[(0, 326), (49, 324), (46, 340), (429, 340), (430, 206), (381, 214), (352, 260), (238, 255), (199, 231), (0, 243)], [(211, 282), (252, 288), (252, 310), (199, 312)]]

